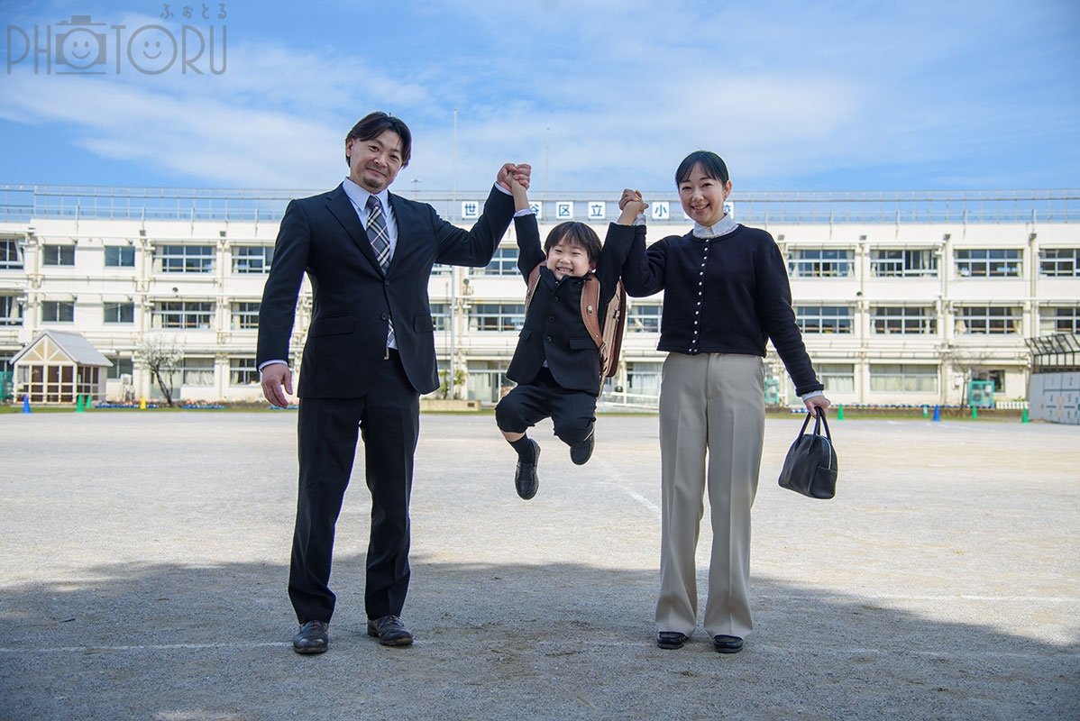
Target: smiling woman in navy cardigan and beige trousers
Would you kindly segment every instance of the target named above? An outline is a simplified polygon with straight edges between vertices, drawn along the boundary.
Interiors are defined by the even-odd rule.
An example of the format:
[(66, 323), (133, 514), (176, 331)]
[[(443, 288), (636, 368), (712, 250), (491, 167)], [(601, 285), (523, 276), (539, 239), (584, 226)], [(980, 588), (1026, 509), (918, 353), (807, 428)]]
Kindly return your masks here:
[(678, 649), (697, 626), (694, 553), (707, 487), (713, 548), (703, 621), (717, 652), (737, 653), (753, 628), (750, 516), (765, 434), (766, 341), (810, 412), (829, 402), (795, 323), (780, 248), (766, 231), (725, 214), (727, 165), (716, 153), (697, 151), (679, 165), (675, 182), (693, 230), (648, 249), (635, 240), (623, 269), (629, 295), (664, 291), (657, 644)]

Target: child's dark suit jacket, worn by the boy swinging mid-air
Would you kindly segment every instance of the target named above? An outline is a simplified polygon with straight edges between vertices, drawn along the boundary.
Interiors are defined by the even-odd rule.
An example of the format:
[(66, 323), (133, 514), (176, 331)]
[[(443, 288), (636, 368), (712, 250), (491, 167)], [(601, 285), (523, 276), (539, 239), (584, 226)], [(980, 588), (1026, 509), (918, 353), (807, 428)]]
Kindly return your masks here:
[[(548, 369), (561, 386), (599, 395), (600, 356), (581, 318), (581, 291), (585, 283), (600, 284), (597, 312), (603, 322), (603, 309), (615, 295), (616, 283), (635, 234), (640, 233), (644, 237), (645, 227), (637, 228), (640, 230), (617, 223), (609, 226), (595, 273), (584, 277), (568, 275), (557, 282), (546, 266), (540, 267), (540, 278), (529, 302), (525, 326), (518, 334), (507, 378), (517, 383), (530, 383), (546, 359)], [(515, 218), (514, 229), (518, 247), (517, 269), (528, 283), (529, 273), (545, 258), (536, 216)]]

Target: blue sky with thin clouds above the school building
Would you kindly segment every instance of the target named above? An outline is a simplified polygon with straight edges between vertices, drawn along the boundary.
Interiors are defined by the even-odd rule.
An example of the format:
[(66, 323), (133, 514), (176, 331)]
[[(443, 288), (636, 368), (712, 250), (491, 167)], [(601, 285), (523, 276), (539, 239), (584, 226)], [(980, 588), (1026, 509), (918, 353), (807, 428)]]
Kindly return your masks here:
[[(322, 190), (381, 109), (414, 133), (399, 192), (504, 161), (536, 190), (670, 191), (698, 148), (746, 190), (1080, 187), (1076, 0), (168, 5), (0, 0), (0, 182)], [(77, 15), (100, 54), (57, 59), (97, 43)], [(213, 26), (219, 72), (152, 72), (185, 24), (189, 59)]]

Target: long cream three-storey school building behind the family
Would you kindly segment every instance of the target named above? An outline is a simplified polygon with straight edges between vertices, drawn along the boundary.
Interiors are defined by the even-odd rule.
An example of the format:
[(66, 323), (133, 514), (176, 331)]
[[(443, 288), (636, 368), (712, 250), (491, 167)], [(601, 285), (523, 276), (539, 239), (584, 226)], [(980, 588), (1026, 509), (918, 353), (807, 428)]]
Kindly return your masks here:
[[(259, 299), (281, 214), (307, 194), (0, 186), (0, 381), (15, 398), (70, 402), (48, 358), (23, 353), (39, 358), (23, 367), (19, 354), (44, 331), (72, 332), (111, 363), (91, 384), (107, 398), (161, 396), (141, 363), (148, 343), (178, 349), (166, 379), (175, 397), (260, 398)], [(468, 227), (486, 191), (402, 194)], [(619, 215), (615, 192), (536, 195), (542, 235), (576, 219), (603, 239)], [(673, 191), (646, 200), (650, 243), (690, 229)], [(737, 190), (731, 213), (780, 245), (796, 317), (834, 403), (962, 405), (973, 389), (1021, 400), (1031, 364), (1025, 339), (1080, 332), (1080, 191)], [(504, 371), (525, 312), (516, 255), (511, 228), (486, 268), (434, 269), (441, 394), (494, 404), (510, 385)], [(630, 299), (610, 399), (654, 403), (661, 301)], [(305, 282), (294, 364), (310, 324)], [(767, 360), (767, 395), (797, 403), (771, 349)]]

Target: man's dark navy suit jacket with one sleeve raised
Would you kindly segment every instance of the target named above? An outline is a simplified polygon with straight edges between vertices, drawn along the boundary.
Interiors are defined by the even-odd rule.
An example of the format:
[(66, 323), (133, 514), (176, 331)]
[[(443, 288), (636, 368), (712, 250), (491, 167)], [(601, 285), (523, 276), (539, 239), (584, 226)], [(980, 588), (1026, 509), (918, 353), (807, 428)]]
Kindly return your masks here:
[(418, 393), (438, 387), (428, 278), (434, 263), (490, 262), (514, 213), (491, 189), (472, 230), (443, 220), (427, 203), (390, 194), (397, 243), (386, 273), (342, 186), (294, 200), (285, 209), (259, 309), (256, 362), (287, 360), (296, 299), (307, 272), (314, 294), (297, 395), (355, 398), (370, 389), (386, 354), (389, 319), (402, 365)]

